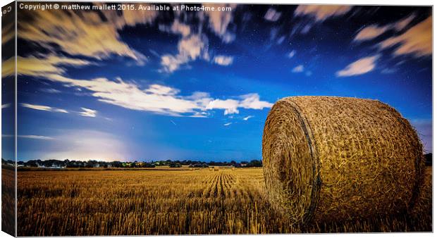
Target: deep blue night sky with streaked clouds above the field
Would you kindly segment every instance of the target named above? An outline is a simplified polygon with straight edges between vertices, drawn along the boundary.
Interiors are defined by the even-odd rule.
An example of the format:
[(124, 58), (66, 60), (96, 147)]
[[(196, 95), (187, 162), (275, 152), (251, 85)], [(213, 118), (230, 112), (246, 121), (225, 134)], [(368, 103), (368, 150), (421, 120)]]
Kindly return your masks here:
[(381, 100), (432, 151), (430, 7), (225, 6), (20, 10), (18, 159), (261, 159), (301, 95)]

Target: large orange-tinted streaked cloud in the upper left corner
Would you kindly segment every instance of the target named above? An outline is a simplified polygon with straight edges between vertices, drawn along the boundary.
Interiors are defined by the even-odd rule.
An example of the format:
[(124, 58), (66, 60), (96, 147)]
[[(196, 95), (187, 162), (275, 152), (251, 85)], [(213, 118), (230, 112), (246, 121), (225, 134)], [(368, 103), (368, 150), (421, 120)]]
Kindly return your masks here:
[(125, 26), (152, 23), (156, 11), (35, 11), (32, 24), (18, 21), (18, 37), (37, 42), (51, 52), (61, 49), (75, 56), (109, 58), (111, 55), (133, 58), (144, 64), (146, 58), (125, 44), (118, 30)]

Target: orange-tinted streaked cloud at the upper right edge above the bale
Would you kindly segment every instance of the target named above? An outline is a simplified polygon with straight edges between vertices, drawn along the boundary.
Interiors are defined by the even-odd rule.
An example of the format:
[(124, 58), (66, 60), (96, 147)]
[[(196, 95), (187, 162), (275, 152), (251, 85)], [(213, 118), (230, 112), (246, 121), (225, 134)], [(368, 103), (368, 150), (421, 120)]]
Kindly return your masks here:
[(432, 55), (432, 18), (426, 18), (401, 35), (390, 37), (379, 44), (381, 49), (395, 47), (393, 54), (413, 56)]

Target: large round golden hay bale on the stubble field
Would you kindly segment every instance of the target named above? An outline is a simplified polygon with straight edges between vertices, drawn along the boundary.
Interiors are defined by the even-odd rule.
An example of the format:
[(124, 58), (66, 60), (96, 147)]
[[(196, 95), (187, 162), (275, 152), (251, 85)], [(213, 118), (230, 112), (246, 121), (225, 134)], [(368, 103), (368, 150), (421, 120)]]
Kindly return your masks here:
[(299, 224), (405, 213), (417, 199), (422, 152), (398, 111), (368, 99), (281, 99), (262, 138), (269, 199)]

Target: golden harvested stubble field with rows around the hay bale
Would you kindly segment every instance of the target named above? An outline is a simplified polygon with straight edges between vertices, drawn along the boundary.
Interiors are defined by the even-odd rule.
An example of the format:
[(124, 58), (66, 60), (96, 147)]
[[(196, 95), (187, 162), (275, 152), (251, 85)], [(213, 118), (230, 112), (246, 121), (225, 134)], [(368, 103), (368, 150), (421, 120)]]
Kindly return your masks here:
[(431, 231), (431, 168), (412, 215), (293, 227), (261, 168), (18, 172), (18, 235)]

